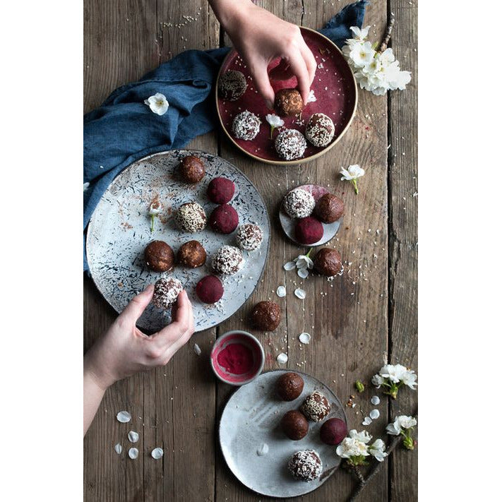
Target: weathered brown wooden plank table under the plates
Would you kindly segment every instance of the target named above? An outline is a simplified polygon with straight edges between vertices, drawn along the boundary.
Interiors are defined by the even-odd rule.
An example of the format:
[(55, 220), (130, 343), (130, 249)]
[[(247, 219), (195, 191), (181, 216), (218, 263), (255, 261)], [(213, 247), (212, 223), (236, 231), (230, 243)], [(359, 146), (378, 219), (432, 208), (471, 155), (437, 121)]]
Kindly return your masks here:
[[(347, 407), (349, 428), (362, 429), (369, 398), (379, 393), (371, 385), (361, 395), (354, 381), (369, 383), (386, 361), (417, 368), (417, 0), (372, 0), (364, 25), (371, 40), (381, 40), (390, 11), (395, 27), (390, 46), (403, 69), (412, 72), (404, 92), (374, 96), (359, 91), (359, 106), (349, 131), (327, 155), (304, 165), (260, 164), (241, 155), (220, 131), (196, 138), (189, 148), (217, 154), (237, 165), (261, 191), (272, 224), (270, 255), (263, 281), (251, 299), (232, 318), (215, 329), (193, 335), (167, 366), (141, 373), (110, 388), (84, 440), (85, 501), (258, 501), (229, 472), (217, 443), (216, 424), (232, 388), (218, 383), (208, 354), (215, 338), (234, 328), (251, 330), (246, 317), (257, 301), (274, 299), (284, 315), (277, 332), (257, 335), (267, 354), (265, 370), (279, 366), (285, 349), (287, 367), (301, 369), (327, 383), (342, 402), (356, 395), (358, 405)], [(264, 8), (292, 23), (320, 28), (349, 0), (263, 0)], [(190, 17), (191, 16), (191, 17)], [(226, 39), (207, 0), (85, 0), (85, 112), (97, 107), (109, 92), (137, 80), (143, 73), (184, 49), (210, 49)], [(366, 169), (359, 196), (340, 167), (359, 164)], [(340, 251), (345, 273), (328, 282), (304, 281), (303, 303), (292, 294), (292, 282), (302, 281), (282, 265), (301, 249), (287, 241), (277, 223), (276, 207), (287, 191), (299, 184), (329, 186), (345, 201), (345, 219), (329, 245)], [(415, 196), (414, 196), (415, 194)], [(289, 294), (275, 296), (286, 284)], [(84, 281), (85, 349), (108, 328), (116, 314)], [(310, 345), (297, 337), (311, 333)], [(286, 340), (286, 341), (285, 341)], [(193, 352), (193, 343), (203, 355)], [(289, 348), (288, 348), (289, 347)], [(381, 393), (379, 393), (381, 395)], [(376, 437), (395, 414), (412, 414), (417, 393), (400, 391), (398, 400), (383, 398), (381, 417), (367, 427)], [(130, 424), (115, 415), (128, 410)], [(114, 453), (114, 444), (129, 446), (127, 431), (136, 430), (140, 455), (130, 460)], [(162, 446), (164, 458), (150, 451)], [(345, 501), (355, 486), (347, 472), (335, 472), (306, 501)], [(417, 499), (417, 452), (398, 449), (386, 460), (358, 500), (414, 501)]]

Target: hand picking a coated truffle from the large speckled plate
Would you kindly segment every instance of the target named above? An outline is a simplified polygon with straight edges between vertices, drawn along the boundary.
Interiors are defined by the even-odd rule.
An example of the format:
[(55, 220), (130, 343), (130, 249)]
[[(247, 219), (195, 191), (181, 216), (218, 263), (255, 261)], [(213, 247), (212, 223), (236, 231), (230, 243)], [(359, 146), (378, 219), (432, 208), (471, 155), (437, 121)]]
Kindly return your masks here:
[(84, 369), (105, 389), (112, 383), (156, 366), (165, 366), (193, 333), (192, 306), (186, 291), (179, 294), (173, 322), (154, 335), (136, 328), (136, 321), (153, 297), (153, 285), (134, 297), (116, 321), (89, 349)]

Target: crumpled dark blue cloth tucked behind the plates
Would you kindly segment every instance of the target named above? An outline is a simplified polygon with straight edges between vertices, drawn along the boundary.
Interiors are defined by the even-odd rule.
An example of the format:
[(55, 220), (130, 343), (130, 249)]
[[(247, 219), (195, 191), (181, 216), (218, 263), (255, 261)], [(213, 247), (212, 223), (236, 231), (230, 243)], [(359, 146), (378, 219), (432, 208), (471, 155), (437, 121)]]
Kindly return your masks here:
[[(322, 30), (338, 47), (352, 36), (349, 28), (361, 28), (366, 4), (361, 0), (342, 8)], [(97, 109), (84, 116), (83, 163), (84, 232), (92, 212), (114, 177), (135, 160), (152, 153), (183, 148), (196, 136), (217, 124), (211, 89), (229, 47), (179, 54), (138, 82), (114, 90)], [(169, 109), (160, 116), (144, 104), (162, 93)], [(88, 270), (85, 258), (84, 270)]]

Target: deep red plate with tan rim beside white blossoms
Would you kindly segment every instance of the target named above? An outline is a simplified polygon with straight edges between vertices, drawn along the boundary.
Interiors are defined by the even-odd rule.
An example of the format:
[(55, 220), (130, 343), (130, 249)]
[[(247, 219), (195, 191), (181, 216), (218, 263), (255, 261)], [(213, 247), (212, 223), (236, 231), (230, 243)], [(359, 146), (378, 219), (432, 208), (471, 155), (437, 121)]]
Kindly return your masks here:
[[(275, 151), (274, 141), (270, 139), (270, 126), (265, 120), (265, 115), (275, 112), (266, 107), (263, 98), (258, 94), (256, 88), (254, 88), (248, 68), (235, 50), (229, 52), (225, 61), (223, 61), (217, 77), (219, 80), (220, 75), (227, 70), (241, 71), (246, 76), (248, 88), (237, 101), (222, 100), (218, 96), (217, 85), (215, 86), (218, 117), (223, 131), (225, 131), (229, 140), (239, 150), (253, 157), (255, 160), (267, 162), (268, 164), (297, 165), (320, 157), (340, 141), (340, 138), (342, 138), (349, 128), (356, 113), (357, 84), (342, 52), (331, 40), (321, 35), (321, 33), (309, 28), (300, 27), (300, 29), (301, 35), (304, 37), (318, 64), (316, 76), (311, 85), (311, 90), (313, 90), (316, 96), (316, 101), (306, 104), (303, 112), (301, 112), (301, 120), (296, 116), (282, 117), (285, 125), (275, 129), (274, 138), (284, 129), (297, 129), (304, 134), (306, 123), (309, 121), (311, 115), (321, 112), (328, 115), (335, 124), (335, 137), (328, 146), (318, 148), (307, 141), (308, 146), (303, 157), (297, 160), (282, 160)], [(270, 63), (268, 71), (275, 68), (279, 63), (280, 59), (276, 59)], [(277, 92), (277, 90), (284, 88), (296, 88), (297, 78), (271, 80), (270, 83), (273, 90)], [(262, 122), (258, 136), (251, 141), (237, 139), (232, 135), (234, 116), (240, 112), (244, 112), (246, 109), (258, 115)]]

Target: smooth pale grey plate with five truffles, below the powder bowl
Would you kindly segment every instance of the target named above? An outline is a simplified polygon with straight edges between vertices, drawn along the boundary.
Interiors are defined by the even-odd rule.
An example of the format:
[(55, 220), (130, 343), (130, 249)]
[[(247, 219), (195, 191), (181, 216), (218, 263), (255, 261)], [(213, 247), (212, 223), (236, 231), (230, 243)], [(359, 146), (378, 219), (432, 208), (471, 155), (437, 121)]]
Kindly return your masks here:
[[(304, 378), (304, 390), (291, 402), (275, 396), (275, 381), (289, 370), (262, 373), (240, 387), (228, 400), (220, 422), (220, 445), (230, 470), (239, 481), (258, 494), (271, 497), (294, 497), (308, 494), (325, 482), (340, 465), (335, 447), (319, 438), (323, 422), (309, 422), (309, 433), (300, 441), (288, 439), (280, 430), (280, 420), (289, 410), (297, 410), (314, 390), (323, 393), (331, 405), (328, 418), (340, 418), (347, 423), (342, 403), (330, 388), (313, 376)], [(262, 443), (268, 445), (267, 455), (258, 455)], [(294, 479), (287, 462), (297, 450), (316, 450), (323, 462), (321, 477), (311, 482)]]

